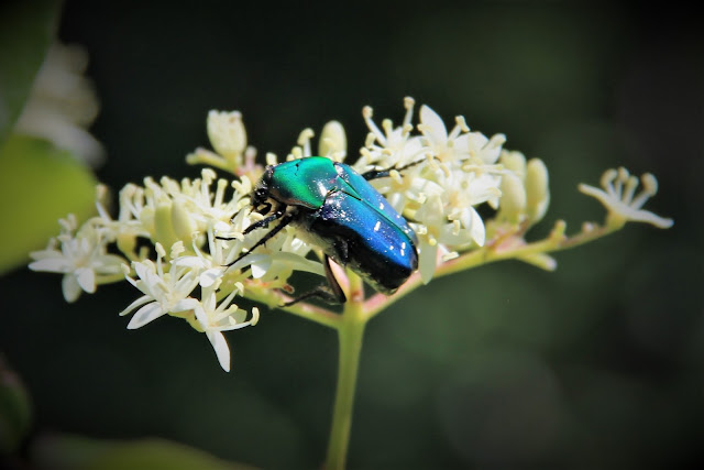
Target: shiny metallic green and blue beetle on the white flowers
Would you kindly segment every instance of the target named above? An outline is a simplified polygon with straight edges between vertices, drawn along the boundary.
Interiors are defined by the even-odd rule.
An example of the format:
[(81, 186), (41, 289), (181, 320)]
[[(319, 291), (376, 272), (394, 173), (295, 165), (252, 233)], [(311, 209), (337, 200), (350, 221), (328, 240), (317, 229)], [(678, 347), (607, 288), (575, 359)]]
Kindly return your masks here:
[(229, 265), (293, 225), (299, 238), (323, 252), (329, 289), (321, 286), (286, 305), (312, 296), (330, 303), (346, 302), (330, 259), (358, 273), (376, 291), (393, 294), (418, 267), (418, 239), (406, 219), (369, 183), (388, 174), (389, 170), (359, 174), (324, 156), (267, 166), (250, 196), (254, 210), (267, 217), (243, 233), (277, 220), (278, 225)]

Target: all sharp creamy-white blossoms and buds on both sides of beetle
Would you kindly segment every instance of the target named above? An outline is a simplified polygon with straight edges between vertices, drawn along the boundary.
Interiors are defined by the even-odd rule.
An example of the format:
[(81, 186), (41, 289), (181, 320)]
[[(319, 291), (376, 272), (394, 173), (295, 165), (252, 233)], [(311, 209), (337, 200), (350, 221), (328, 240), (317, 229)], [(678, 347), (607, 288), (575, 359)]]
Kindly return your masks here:
[[(501, 240), (504, 245), (506, 240), (525, 244), (522, 234), (542, 219), (550, 199), (542, 161), (503, 149), (502, 134), (487, 138), (471, 131), (463, 117), (457, 117), (448, 131), (427, 106), (420, 107), (419, 123), (414, 125), (414, 100), (406, 98), (402, 124), (384, 120), (381, 129), (372, 109), (364, 108), (370, 133), (351, 165), (359, 173), (388, 171), (389, 177), (372, 184), (415, 230), (421, 280), (429, 282), (442, 263), (474, 249), (498, 247)], [(267, 230), (246, 230), (265, 217), (252, 210), (249, 197), (263, 167), (255, 163), (256, 150), (248, 144), (240, 112), (210, 111), (207, 127), (213, 150), (197, 149), (187, 156), (191, 164), (207, 165), (199, 178), (147, 177), (141, 186), (128, 184), (119, 195), (117, 218), (106, 210), (107, 189), (99, 186), (98, 215), (81, 226), (73, 217), (62, 220), (61, 234), (46, 250), (32, 253), (35, 261), (30, 267), (64, 274), (68, 302), (81, 292), (94, 293), (97, 285), (127, 280), (141, 293), (121, 313), (133, 314), (128, 328), (164, 315), (183, 318), (206, 334), (221, 367), (229, 370), (222, 331), (253, 326), (260, 316), (256, 307), (240, 308), (235, 298), (261, 300), (262, 292), (290, 292), (288, 278), (295, 271), (324, 275), (324, 270), (309, 256), (315, 247), (292, 227), (250, 253)], [(304, 130), (287, 160), (314, 155), (312, 138), (310, 129)], [(338, 162), (346, 157), (346, 136), (339, 122), (322, 129), (317, 154)], [(276, 155), (266, 154), (266, 163), (275, 165)], [(212, 167), (234, 179), (218, 178)], [(646, 192), (635, 199), (637, 181), (625, 170), (607, 172), (606, 193), (585, 185), (580, 189), (606, 205), (608, 220), (667, 227), (671, 221), (640, 210), (656, 192), (652, 176), (642, 181)], [(483, 204), (494, 209), (486, 221), (476, 210)], [(544, 253), (522, 252), (516, 258), (543, 267), (550, 264)]]

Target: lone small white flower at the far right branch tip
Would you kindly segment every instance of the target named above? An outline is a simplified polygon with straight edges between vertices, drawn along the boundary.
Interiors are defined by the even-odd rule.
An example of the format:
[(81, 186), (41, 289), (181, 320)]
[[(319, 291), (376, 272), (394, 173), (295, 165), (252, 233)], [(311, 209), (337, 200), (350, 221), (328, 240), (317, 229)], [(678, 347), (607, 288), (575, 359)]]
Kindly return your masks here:
[(618, 170), (607, 170), (602, 176), (602, 187), (605, 190), (580, 184), (580, 192), (598, 199), (608, 210), (610, 222), (615, 226), (627, 221), (651, 223), (658, 228), (667, 229), (672, 227), (672, 219), (656, 216), (652, 212), (642, 210), (646, 201), (658, 193), (658, 181), (650, 173), (640, 177), (644, 190), (634, 198), (638, 187), (638, 178), (630, 175), (624, 167)]

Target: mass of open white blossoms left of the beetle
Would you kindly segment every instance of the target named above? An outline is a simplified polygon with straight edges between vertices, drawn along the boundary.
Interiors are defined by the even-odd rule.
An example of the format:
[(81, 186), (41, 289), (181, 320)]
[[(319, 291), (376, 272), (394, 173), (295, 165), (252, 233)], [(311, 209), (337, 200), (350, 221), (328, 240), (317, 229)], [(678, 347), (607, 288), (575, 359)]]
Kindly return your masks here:
[[(105, 209), (106, 190), (100, 186), (98, 216), (80, 227), (74, 217), (62, 220), (62, 233), (46, 250), (32, 253), (35, 261), (30, 269), (63, 273), (67, 302), (76, 300), (81, 291), (94, 293), (99, 284), (127, 278), (143, 294), (122, 311), (136, 310), (128, 328), (166, 314), (184, 318), (206, 334), (220, 364), (229, 370), (222, 331), (255, 325), (258, 319), (256, 307), (250, 315), (233, 303), (235, 296), (244, 295), (243, 281), (283, 287), (295, 269), (322, 272), (305, 258), (307, 247), (293, 234), (270, 244), (272, 255), (248, 256), (240, 266), (229, 269), (253, 244), (242, 231), (261, 217), (249, 211), (250, 190), (249, 178), (216, 181), (210, 168), (202, 170), (200, 178), (180, 183), (147, 177), (144, 186), (129, 184), (120, 192), (120, 210), (113, 219)], [(229, 240), (219, 234), (229, 234)], [(164, 247), (169, 247), (168, 253)]]

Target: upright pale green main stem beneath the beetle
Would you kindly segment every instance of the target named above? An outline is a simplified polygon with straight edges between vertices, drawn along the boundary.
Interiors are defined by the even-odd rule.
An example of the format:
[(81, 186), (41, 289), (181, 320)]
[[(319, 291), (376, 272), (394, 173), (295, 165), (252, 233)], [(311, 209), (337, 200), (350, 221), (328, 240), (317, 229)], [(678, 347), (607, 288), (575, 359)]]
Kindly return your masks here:
[(362, 315), (363, 303), (359, 300), (360, 296), (358, 294), (361, 288), (362, 281), (356, 275), (351, 275), (351, 298), (345, 304), (344, 311), (342, 313), (342, 321), (338, 328), (338, 339), (340, 341), (338, 384), (332, 413), (332, 428), (328, 444), (328, 457), (324, 464), (326, 470), (344, 468), (350, 444), (354, 391), (360, 365), (360, 353), (362, 351), (362, 339), (364, 338), (364, 327), (366, 325), (366, 318)]

